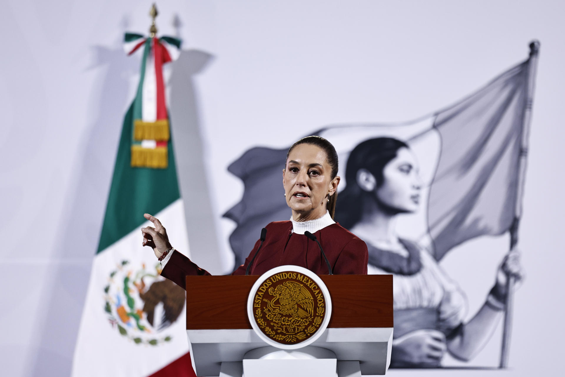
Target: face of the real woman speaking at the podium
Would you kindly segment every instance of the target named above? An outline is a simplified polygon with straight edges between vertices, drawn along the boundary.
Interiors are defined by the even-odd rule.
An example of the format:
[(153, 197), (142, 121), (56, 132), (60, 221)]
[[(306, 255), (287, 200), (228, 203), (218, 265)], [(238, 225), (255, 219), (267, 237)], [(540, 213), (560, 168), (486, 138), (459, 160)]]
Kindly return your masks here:
[(329, 196), (336, 192), (340, 177), (332, 180), (332, 167), (325, 151), (311, 144), (294, 147), (282, 171), (286, 204), (294, 220), (312, 220), (325, 214)]

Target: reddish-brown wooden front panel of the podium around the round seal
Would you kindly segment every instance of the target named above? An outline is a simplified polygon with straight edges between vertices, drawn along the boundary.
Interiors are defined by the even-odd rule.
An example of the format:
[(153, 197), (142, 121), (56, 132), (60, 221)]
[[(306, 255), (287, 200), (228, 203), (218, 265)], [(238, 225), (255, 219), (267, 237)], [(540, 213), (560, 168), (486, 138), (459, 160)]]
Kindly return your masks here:
[[(247, 296), (259, 276), (186, 276), (186, 328), (251, 328)], [(321, 275), (332, 298), (328, 327), (393, 327), (392, 275)]]

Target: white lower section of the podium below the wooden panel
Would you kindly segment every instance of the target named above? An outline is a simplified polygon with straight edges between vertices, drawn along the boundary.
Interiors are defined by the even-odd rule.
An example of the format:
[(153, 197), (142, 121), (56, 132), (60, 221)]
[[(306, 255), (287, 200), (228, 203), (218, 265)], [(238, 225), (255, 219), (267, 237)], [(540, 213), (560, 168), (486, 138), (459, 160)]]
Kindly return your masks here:
[[(326, 354), (326, 356), (310, 354), (310, 356), (314, 359), (333, 359), (335, 364), (333, 374), (329, 375), (331, 377), (336, 375), (339, 377), (383, 375), (390, 363), (392, 333), (392, 327), (327, 328), (323, 335), (308, 347), (324, 349), (332, 354)], [(192, 367), (197, 376), (242, 377), (244, 375), (242, 360), (271, 361), (260, 359), (272, 352), (264, 350), (266, 348), (264, 341), (251, 329), (186, 330), (186, 334), (189, 340)], [(294, 357), (298, 355), (296, 352), (308, 353), (307, 350), (305, 351), (306, 348), (293, 350)], [(263, 351), (259, 351), (260, 349)], [(273, 349), (277, 352), (283, 351), (278, 348)], [(251, 352), (257, 354), (251, 354)], [(308, 361), (305, 358), (298, 360)], [(298, 374), (290, 374), (286, 365), (285, 363), (285, 377), (298, 377)], [(275, 372), (275, 367), (269, 367), (267, 372), (263, 370), (261, 377), (275, 376)], [(309, 377), (312, 376), (324, 377), (318, 371), (310, 374)], [(250, 376), (245, 375), (245, 377)]]

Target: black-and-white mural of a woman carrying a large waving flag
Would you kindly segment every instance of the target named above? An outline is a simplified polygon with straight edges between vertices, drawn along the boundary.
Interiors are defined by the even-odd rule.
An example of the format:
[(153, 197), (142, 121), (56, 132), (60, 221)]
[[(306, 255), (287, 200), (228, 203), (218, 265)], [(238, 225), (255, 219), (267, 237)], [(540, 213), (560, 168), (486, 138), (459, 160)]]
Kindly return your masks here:
[[(437, 367), (445, 353), (470, 361), (505, 314), (506, 366), (508, 291), (523, 280), (516, 241), (539, 42), (530, 49), (525, 62), (428, 116), (313, 133), (331, 141), (340, 159), (335, 219), (367, 243), (370, 274), (394, 275), (393, 367)], [(252, 148), (228, 168), (245, 187), (224, 214), (237, 224), (229, 237), (236, 266), (264, 224), (290, 216), (273, 194), (281, 190), (287, 150)], [(509, 253), (484, 305), (468, 317), (465, 292), (441, 259), (465, 241), (507, 232)]]

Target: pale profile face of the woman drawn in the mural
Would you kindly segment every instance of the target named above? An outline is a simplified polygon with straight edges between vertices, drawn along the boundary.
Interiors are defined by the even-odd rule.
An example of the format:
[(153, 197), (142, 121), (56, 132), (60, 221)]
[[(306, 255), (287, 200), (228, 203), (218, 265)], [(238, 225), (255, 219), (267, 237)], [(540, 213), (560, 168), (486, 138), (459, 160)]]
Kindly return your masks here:
[(420, 205), (420, 168), (408, 148), (401, 148), (397, 156), (383, 169), (384, 181), (376, 190), (377, 198), (390, 209), (411, 213)]

